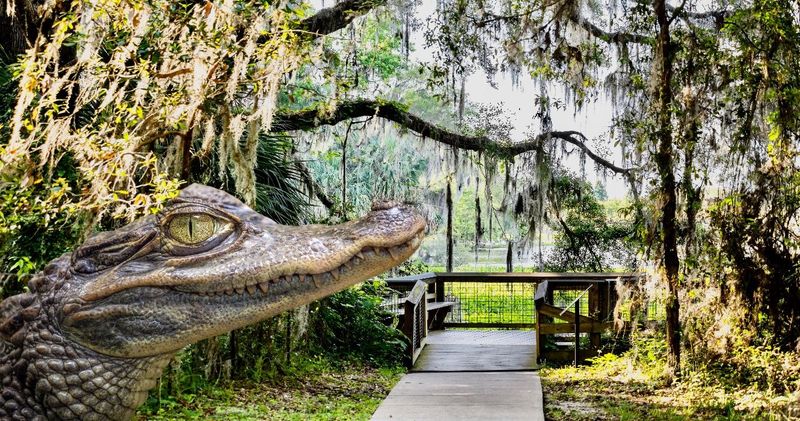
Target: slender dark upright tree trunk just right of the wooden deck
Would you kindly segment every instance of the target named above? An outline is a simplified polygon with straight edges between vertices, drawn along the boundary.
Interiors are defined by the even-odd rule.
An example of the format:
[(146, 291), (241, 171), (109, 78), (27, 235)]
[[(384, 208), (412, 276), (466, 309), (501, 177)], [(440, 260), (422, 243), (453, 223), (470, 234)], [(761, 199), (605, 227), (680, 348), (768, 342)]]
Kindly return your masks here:
[(667, 280), (667, 347), (668, 364), (673, 375), (680, 374), (680, 307), (678, 303), (678, 274), (680, 261), (678, 258), (678, 238), (676, 230), (677, 198), (675, 192), (675, 173), (673, 171), (672, 140), (672, 65), (674, 51), (670, 40), (669, 18), (665, 0), (656, 0), (653, 4), (659, 32), (656, 40), (655, 66), (657, 71), (656, 119), (658, 152), (655, 160), (660, 178), (661, 193), (661, 240), (663, 242), (662, 272)]

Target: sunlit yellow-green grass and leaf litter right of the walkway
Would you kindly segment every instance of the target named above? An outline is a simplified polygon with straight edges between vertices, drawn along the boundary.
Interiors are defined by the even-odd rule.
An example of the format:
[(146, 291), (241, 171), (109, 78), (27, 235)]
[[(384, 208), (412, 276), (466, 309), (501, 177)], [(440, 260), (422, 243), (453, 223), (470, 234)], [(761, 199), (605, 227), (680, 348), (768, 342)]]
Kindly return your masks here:
[[(641, 357), (641, 356), (640, 356)], [(653, 358), (655, 357), (655, 358)], [(668, 382), (663, 356), (606, 354), (589, 366), (540, 371), (548, 420), (784, 420), (800, 416), (800, 395), (725, 383), (706, 369)]]

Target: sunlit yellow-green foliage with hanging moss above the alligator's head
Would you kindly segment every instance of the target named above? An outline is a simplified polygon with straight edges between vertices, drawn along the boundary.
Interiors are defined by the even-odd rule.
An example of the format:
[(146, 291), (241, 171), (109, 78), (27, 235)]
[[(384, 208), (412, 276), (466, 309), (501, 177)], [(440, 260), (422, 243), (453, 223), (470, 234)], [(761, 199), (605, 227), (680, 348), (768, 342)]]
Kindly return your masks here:
[(202, 158), (263, 202), (258, 135), (305, 9), (228, 6), (67, 2), (47, 42), (2, 66), (0, 271), (33, 272), (98, 223), (158, 210)]

